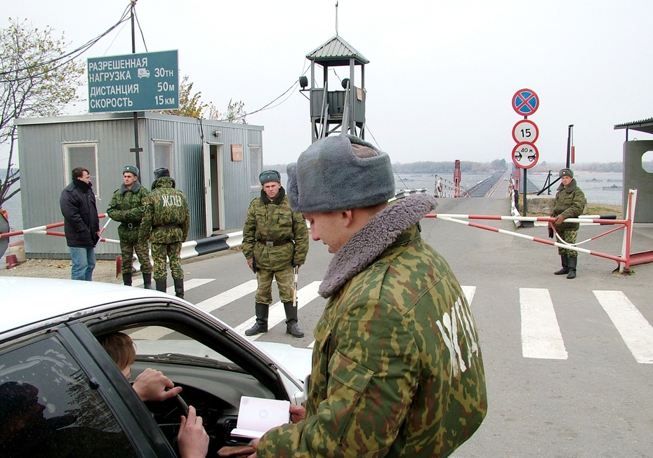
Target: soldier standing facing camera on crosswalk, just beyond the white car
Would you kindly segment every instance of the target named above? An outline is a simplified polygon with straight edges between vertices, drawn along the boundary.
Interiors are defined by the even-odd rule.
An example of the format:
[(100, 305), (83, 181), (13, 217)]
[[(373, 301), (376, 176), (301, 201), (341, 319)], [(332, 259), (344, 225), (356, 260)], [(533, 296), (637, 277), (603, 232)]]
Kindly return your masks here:
[(308, 228), (300, 213), (291, 210), (277, 170), (258, 176), (263, 189), (249, 204), (243, 224), (243, 254), (256, 273), (258, 290), (254, 300), (256, 323), (245, 335), (268, 332), (268, 309), (272, 303), (272, 279), (277, 278), (279, 300), (286, 311), (286, 333), (304, 337), (297, 324), (293, 304), (293, 267), (301, 266), (308, 254)]

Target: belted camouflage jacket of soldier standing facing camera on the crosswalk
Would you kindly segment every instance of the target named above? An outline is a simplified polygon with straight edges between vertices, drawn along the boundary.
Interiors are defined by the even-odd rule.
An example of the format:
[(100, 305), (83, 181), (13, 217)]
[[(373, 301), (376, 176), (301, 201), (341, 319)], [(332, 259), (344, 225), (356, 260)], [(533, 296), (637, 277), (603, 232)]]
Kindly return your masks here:
[[(274, 201), (261, 189), (260, 197), (249, 204), (243, 224), (242, 249), (245, 258), (252, 256), (256, 267), (281, 270), (291, 264), (301, 265), (308, 254), (308, 227), (301, 213), (293, 212), (282, 187)], [(267, 246), (266, 241), (291, 240), (294, 243)]]

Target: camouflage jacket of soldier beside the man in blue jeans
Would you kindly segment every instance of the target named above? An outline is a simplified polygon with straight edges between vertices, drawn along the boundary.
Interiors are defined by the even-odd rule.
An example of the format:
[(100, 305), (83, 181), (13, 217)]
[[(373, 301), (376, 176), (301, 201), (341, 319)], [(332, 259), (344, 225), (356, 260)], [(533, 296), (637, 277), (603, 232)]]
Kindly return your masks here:
[[(121, 241), (130, 243), (138, 242), (140, 222), (143, 220), (143, 198), (150, 194), (146, 187), (136, 181), (127, 188), (124, 184), (114, 191), (107, 215), (122, 224), (118, 227), (118, 236)], [(129, 225), (131, 224), (131, 227)]]

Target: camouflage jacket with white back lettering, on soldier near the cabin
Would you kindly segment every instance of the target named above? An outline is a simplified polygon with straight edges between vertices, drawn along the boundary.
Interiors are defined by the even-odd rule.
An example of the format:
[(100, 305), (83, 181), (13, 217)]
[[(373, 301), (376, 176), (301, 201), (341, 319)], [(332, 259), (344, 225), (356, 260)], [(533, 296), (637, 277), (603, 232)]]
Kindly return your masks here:
[(140, 238), (152, 243), (183, 242), (190, 228), (186, 196), (175, 189), (175, 180), (161, 177), (152, 183), (152, 192), (144, 201)]

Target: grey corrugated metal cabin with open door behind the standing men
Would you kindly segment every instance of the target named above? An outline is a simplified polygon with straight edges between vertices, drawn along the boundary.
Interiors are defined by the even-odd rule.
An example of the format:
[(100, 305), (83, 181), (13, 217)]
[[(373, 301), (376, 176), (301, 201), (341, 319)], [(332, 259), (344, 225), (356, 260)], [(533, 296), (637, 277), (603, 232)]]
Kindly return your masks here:
[[(170, 169), (188, 198), (189, 240), (242, 228), (249, 202), (259, 195), (263, 126), (138, 112), (140, 181), (151, 188), (153, 171)], [(122, 168), (136, 165), (132, 113), (17, 119), (23, 227), (63, 220), (61, 191), (72, 169), (91, 172), (98, 212), (105, 213), (122, 184)], [(100, 220), (105, 224), (106, 220)], [(118, 238), (118, 223), (103, 236)], [(62, 230), (62, 229), (60, 229)], [(27, 257), (70, 257), (62, 237), (25, 235)], [(112, 259), (119, 246), (100, 243), (98, 259)]]

